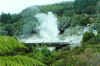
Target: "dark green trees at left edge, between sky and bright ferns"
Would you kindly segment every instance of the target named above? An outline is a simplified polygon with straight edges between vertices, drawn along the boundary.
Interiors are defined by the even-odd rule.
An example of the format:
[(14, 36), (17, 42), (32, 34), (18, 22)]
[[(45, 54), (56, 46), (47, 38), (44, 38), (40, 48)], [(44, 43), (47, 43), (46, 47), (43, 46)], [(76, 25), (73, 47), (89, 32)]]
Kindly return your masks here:
[(20, 14), (2, 13), (0, 15), (0, 35), (15, 36), (20, 32), (22, 23)]

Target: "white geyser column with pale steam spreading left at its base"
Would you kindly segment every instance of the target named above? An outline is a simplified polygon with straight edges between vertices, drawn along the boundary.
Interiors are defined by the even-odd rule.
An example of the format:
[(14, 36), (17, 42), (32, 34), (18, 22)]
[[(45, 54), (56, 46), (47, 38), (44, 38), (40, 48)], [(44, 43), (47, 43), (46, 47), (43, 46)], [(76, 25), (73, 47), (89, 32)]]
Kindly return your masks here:
[(39, 36), (33, 35), (29, 38), (22, 39), (25, 43), (40, 43), (40, 42), (57, 42), (59, 40), (59, 30), (57, 27), (57, 17), (52, 13), (48, 12), (36, 14), (35, 17), (40, 22), (38, 29)]

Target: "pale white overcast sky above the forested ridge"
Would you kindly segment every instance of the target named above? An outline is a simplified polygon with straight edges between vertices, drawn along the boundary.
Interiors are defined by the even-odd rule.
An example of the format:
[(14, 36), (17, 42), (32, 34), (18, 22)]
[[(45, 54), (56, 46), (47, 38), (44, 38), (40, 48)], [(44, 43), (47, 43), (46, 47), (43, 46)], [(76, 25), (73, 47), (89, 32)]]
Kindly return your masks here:
[(73, 1), (73, 0), (0, 0), (0, 14), (19, 13), (23, 9), (29, 6), (53, 4), (62, 1)]

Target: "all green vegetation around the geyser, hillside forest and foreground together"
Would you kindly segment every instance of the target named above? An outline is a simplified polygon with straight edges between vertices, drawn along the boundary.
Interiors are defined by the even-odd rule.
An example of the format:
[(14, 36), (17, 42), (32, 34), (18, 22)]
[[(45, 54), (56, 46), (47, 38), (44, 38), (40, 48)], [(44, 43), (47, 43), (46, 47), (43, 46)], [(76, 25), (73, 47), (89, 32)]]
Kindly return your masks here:
[[(47, 45), (30, 47), (17, 40), (23, 34), (29, 36), (37, 33), (38, 23), (33, 15), (49, 11), (58, 18), (60, 35), (66, 34), (67, 28), (76, 26), (89, 26), (92, 30), (95, 29), (97, 34), (92, 30), (87, 31), (82, 37), (80, 46), (68, 46), (69, 49), (65, 46), (53, 51), (50, 51)], [(99, 66), (99, 46), (99, 0), (75, 0), (32, 6), (18, 14), (2, 13), (0, 15), (0, 66)]]

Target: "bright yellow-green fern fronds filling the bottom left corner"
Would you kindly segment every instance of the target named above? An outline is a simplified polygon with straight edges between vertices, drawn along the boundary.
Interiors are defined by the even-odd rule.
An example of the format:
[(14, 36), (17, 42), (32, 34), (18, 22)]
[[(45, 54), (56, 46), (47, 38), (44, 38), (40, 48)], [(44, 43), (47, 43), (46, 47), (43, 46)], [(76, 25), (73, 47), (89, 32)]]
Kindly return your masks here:
[(0, 56), (0, 66), (46, 66), (27, 56)]

